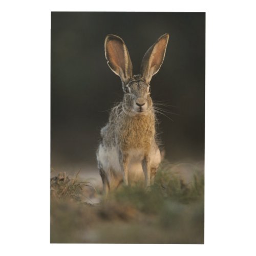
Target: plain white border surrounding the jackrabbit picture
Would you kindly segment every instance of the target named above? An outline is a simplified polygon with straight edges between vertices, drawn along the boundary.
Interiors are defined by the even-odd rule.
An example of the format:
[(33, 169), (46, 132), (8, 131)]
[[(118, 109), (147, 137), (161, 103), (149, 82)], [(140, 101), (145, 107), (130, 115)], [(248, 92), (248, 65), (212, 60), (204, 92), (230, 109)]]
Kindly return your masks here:
[[(5, 1), (1, 10), (5, 254), (255, 252), (252, 1)], [(49, 244), (50, 11), (206, 11), (205, 245)]]

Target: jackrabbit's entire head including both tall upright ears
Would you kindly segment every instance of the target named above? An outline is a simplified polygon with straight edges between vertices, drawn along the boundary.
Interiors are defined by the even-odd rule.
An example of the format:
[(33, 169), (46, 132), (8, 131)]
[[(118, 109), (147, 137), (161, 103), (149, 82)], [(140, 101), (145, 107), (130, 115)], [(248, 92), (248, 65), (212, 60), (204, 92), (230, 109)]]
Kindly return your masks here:
[(133, 65), (122, 38), (108, 35), (105, 38), (105, 57), (111, 70), (121, 78), (124, 91), (123, 110), (127, 114), (145, 114), (152, 108), (150, 81), (160, 69), (169, 35), (160, 36), (145, 53), (140, 74), (133, 76)]

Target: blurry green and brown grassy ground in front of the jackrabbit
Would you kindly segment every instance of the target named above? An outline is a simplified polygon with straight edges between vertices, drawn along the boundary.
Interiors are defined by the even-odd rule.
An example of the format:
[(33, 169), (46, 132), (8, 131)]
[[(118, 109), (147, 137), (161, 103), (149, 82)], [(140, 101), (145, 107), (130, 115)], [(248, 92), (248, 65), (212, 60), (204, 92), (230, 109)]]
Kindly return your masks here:
[(186, 184), (172, 170), (163, 163), (151, 190), (123, 186), (96, 205), (89, 182), (52, 179), (51, 243), (203, 243), (204, 177)]

